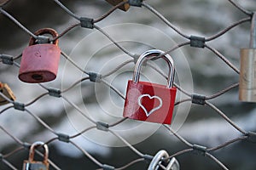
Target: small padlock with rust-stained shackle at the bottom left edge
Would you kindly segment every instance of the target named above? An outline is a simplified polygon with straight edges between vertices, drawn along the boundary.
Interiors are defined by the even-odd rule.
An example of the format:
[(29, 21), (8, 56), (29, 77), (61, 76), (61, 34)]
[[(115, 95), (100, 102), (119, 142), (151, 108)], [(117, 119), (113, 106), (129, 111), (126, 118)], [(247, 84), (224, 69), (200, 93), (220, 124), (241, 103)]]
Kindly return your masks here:
[[(44, 146), (44, 160), (43, 161), (34, 161), (35, 149), (38, 146)], [(23, 170), (48, 170), (49, 150), (48, 146), (44, 142), (35, 142), (32, 144), (29, 150), (29, 158), (23, 163)]]

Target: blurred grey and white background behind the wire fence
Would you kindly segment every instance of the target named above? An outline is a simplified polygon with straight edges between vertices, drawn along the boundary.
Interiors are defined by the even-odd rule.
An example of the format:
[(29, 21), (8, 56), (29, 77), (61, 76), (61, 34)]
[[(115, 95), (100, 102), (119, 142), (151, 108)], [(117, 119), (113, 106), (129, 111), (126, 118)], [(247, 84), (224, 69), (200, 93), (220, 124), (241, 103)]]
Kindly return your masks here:
[[(254, 0), (236, 2), (243, 8), (256, 10)], [(61, 3), (64, 3), (75, 14), (90, 18), (98, 18), (112, 7), (103, 0), (63, 0)], [(237, 20), (246, 17), (231, 3), (223, 0), (147, 0), (146, 3), (156, 8), (174, 26), (187, 35), (210, 37)], [(44, 27), (51, 27), (62, 32), (77, 22), (54, 1), (12, 0), (3, 8), (32, 32)], [(97, 23), (96, 26), (107, 31), (113, 39), (118, 40), (132, 54), (142, 54), (149, 48), (168, 50), (176, 43), (184, 42), (183, 37), (166, 26), (147, 8), (131, 7), (127, 12), (115, 10), (113, 14)], [(232, 64), (239, 68), (240, 48), (248, 47), (249, 30), (250, 23), (247, 22), (236, 26), (224, 36), (207, 44), (217, 48), (221, 54), (224, 54)], [(29, 41), (29, 35), (3, 14), (0, 14), (0, 37), (2, 37), (0, 54), (13, 56), (21, 54)], [(59, 46), (86, 71), (110, 71), (124, 62), (125, 59), (131, 59), (96, 29), (76, 27), (61, 37)], [(177, 64), (175, 65), (177, 68), (175, 82), (183, 84), (182, 88), (189, 93), (211, 95), (239, 81), (236, 72), (232, 71), (208, 49), (186, 46), (171, 53), (171, 55), (174, 63)], [(183, 59), (186, 61), (186, 65)], [(118, 88), (122, 94), (125, 94), (126, 82), (131, 79), (133, 68), (134, 64), (131, 63), (106, 80)], [(38, 85), (20, 82), (18, 71), (19, 69), (15, 66), (0, 65), (0, 82), (9, 84), (17, 97), (17, 101), (28, 103), (46, 92), (44, 88), (40, 88)], [(155, 73), (151, 74), (148, 70), (144, 71), (144, 74), (149, 75), (142, 77), (144, 79), (165, 83), (164, 78), (155, 77)], [(67, 59), (61, 57), (58, 77), (55, 81), (44, 83), (44, 85), (65, 89), (81, 77), (84, 77), (81, 71), (74, 68), (67, 62)], [(65, 96), (97, 121), (116, 122), (122, 117), (124, 100), (102, 84), (85, 81), (68, 91)], [(246, 131), (256, 131), (255, 104), (240, 102), (238, 100), (238, 88), (232, 89), (217, 99), (212, 99), (211, 102), (217, 105), (218, 109), (224, 111), (241, 128)], [(0, 111), (3, 111), (5, 107), (0, 106)], [(178, 108), (182, 112), (181, 114), (184, 114), (185, 119), (180, 121), (177, 126), (175, 125), (175, 130), (192, 144), (201, 144), (211, 148), (241, 135), (222, 117), (218, 116), (216, 111), (207, 106), (185, 103), (179, 105)], [(40, 116), (56, 132), (74, 134), (90, 125), (90, 122), (84, 120), (78, 111), (75, 111), (71, 105), (67, 105), (67, 102), (62, 99), (46, 96), (27, 109)], [(173, 123), (174, 121), (175, 118)], [(54, 137), (32, 116), (14, 109), (4, 111), (0, 115), (0, 125), (24, 142), (32, 143), (37, 140), (45, 142)], [(140, 127), (144, 129), (142, 131), (135, 130)], [(115, 127), (114, 130), (121, 133), (131, 144), (134, 144), (137, 150), (152, 156), (162, 149), (167, 150), (169, 155), (172, 155), (187, 148), (160, 125), (128, 120)], [(74, 139), (74, 141), (103, 164), (114, 167), (121, 167), (137, 158), (134, 152), (109, 133), (92, 130)], [(0, 131), (0, 153), (9, 153), (18, 146), (6, 133)], [(71, 144), (55, 141), (49, 144), (49, 149), (49, 158), (61, 169), (99, 168)], [(212, 155), (230, 169), (249, 170), (256, 167), (255, 150), (255, 144), (244, 141), (214, 151)], [(204, 156), (189, 153), (176, 158), (181, 169), (220, 169), (218, 164)], [(15, 167), (21, 169), (25, 159), (27, 159), (27, 150), (10, 156), (8, 160)], [(127, 169), (146, 169), (147, 167), (147, 163), (139, 162)], [(1, 161), (0, 169), (9, 169), (9, 167), (6, 167)]]

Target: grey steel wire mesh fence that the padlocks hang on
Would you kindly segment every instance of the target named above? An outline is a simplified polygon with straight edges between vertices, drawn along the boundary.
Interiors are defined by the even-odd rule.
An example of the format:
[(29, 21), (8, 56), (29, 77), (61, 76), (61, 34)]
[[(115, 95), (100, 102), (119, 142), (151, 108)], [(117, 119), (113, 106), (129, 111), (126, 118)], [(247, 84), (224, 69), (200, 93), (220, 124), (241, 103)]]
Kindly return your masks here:
[[(69, 31), (72, 31), (75, 27), (79, 27), (79, 26), (83, 27), (84, 29), (95, 29), (95, 30), (101, 32), (102, 35), (107, 37), (109, 39), (109, 41), (112, 42), (116, 46), (116, 48), (119, 48), (122, 52), (124, 52), (124, 54), (129, 55), (131, 57), (131, 59), (128, 59), (125, 62), (119, 63), (119, 65), (116, 65), (115, 68), (113, 68), (111, 71), (109, 71), (105, 74), (100, 74), (97, 72), (85, 70), (84, 68), (79, 66), (78, 63), (73, 61), (73, 59), (68, 54), (65, 53), (65, 49), (61, 49), (61, 56), (64, 59), (66, 59), (67, 62), (72, 64), (74, 67), (76, 67), (77, 70), (80, 71), (81, 73), (83, 73), (85, 76), (83, 76), (81, 79), (77, 80), (76, 82), (73, 82), (73, 84), (70, 85), (66, 89), (50, 88), (49, 86), (44, 85), (42, 83), (34, 84), (33, 86), (38, 86), (38, 88), (42, 88), (44, 90), (44, 93), (39, 94), (37, 98), (32, 99), (32, 101), (30, 101), (30, 102), (12, 100), (12, 99), (10, 99), (10, 97), (8, 95), (4, 94), (2, 91), (0, 93), (0, 96), (2, 97), (2, 99), (7, 100), (9, 102), (9, 104), (0, 107), (0, 114), (3, 115), (5, 113), (5, 111), (9, 111), (9, 110), (17, 110), (17, 111), (25, 112), (26, 116), (32, 116), (39, 124), (41, 124), (45, 129), (48, 130), (47, 131), (48, 133), (52, 133), (52, 138), (45, 139), (44, 144), (50, 145), (52, 143), (59, 142), (59, 143), (68, 143), (68, 144), (70, 144), (69, 146), (73, 145), (75, 148), (80, 150), (84, 154), (84, 156), (86, 156), (86, 159), (89, 159), (90, 161), (94, 162), (96, 167), (100, 168), (100, 169), (125, 169), (125, 168), (129, 168), (129, 167), (133, 166), (134, 164), (136, 165), (137, 162), (143, 162), (146, 165), (148, 165), (148, 163), (150, 163), (153, 160), (154, 156), (149, 155), (147, 153), (147, 151), (137, 150), (136, 146), (130, 144), (127, 139), (122, 137), (119, 133), (115, 132), (114, 127), (117, 127), (120, 124), (124, 123), (127, 120), (127, 118), (120, 118), (119, 121), (111, 122), (111, 123), (101, 122), (100, 120), (96, 120), (94, 118), (91, 118), (91, 116), (88, 116), (86, 111), (84, 111), (78, 105), (76, 105), (75, 102), (73, 102), (71, 99), (69, 99), (69, 96), (67, 95), (67, 93), (70, 90), (72, 90), (73, 88), (81, 85), (83, 82), (90, 81), (93, 83), (101, 83), (101, 84), (105, 85), (106, 87), (110, 88), (113, 91), (113, 93), (119, 95), (120, 100), (125, 99), (125, 94), (122, 94), (121, 92), (119, 92), (118, 88), (115, 88), (113, 86), (113, 84), (109, 83), (106, 80), (106, 77), (113, 75), (116, 71), (119, 71), (119, 69), (121, 69), (125, 65), (131, 64), (133, 62), (136, 63), (137, 57), (139, 54), (133, 54), (131, 51), (127, 50), (119, 42), (115, 41), (113, 39), (113, 37), (108, 34), (108, 32), (104, 31), (100, 26), (97, 26), (97, 24), (99, 22), (101, 22), (102, 20), (105, 20), (108, 17), (111, 17), (111, 14), (113, 13), (113, 11), (118, 10), (119, 7), (122, 7), (125, 4), (126, 5), (129, 4), (131, 6), (130, 8), (133, 8), (134, 6), (137, 6), (140, 8), (147, 8), (148, 11), (150, 11), (152, 14), (155, 14), (159, 20), (163, 21), (166, 24), (166, 26), (169, 26), (170, 28), (172, 28), (173, 31), (176, 31), (176, 33), (178, 35), (180, 35), (181, 37), (183, 37), (183, 39), (184, 39), (183, 42), (177, 44), (174, 47), (170, 47), (168, 50), (166, 50), (165, 54), (170, 54), (173, 51), (177, 50), (178, 48), (182, 48), (183, 46), (190, 46), (192, 48), (203, 48), (205, 50), (210, 50), (213, 54), (218, 56), (218, 59), (221, 59), (225, 65), (230, 67), (231, 70), (235, 71), (237, 74), (237, 77), (238, 77), (240, 74), (239, 69), (236, 68), (236, 66), (233, 65), (227, 57), (225, 57), (223, 54), (221, 54), (218, 51), (218, 49), (213, 48), (209, 44), (209, 42), (217, 39), (218, 37), (222, 37), (226, 32), (230, 31), (231, 29), (233, 29), (236, 26), (240, 26), (241, 24), (243, 24), (245, 22), (252, 21), (253, 15), (254, 15), (254, 13), (252, 11), (247, 11), (246, 9), (241, 8), (240, 5), (238, 5), (234, 1), (229, 0), (229, 2), (235, 8), (238, 8), (241, 11), (241, 13), (245, 14), (247, 17), (245, 17), (242, 20), (237, 20), (235, 23), (224, 28), (222, 31), (217, 32), (215, 35), (212, 35), (211, 37), (198, 37), (195, 35), (187, 35), (186, 32), (180, 31), (176, 26), (174, 26), (172, 24), (171, 21), (167, 20), (165, 16), (160, 14), (157, 10), (154, 9), (154, 7), (152, 7), (150, 4), (148, 4), (147, 1), (140, 1), (140, 0), (120, 1), (120, 3), (113, 6), (113, 8), (109, 9), (109, 11), (106, 14), (103, 14), (101, 17), (96, 18), (96, 19), (87, 18), (84, 16), (79, 16), (78, 14), (74, 14), (67, 6), (62, 4), (60, 1), (54, 0), (54, 2), (57, 5), (59, 5), (62, 10), (66, 11), (67, 14), (69, 14), (71, 17), (78, 20), (78, 22), (73, 24), (73, 26), (67, 27), (65, 29), (65, 31), (62, 31), (61, 34), (57, 37), (53, 37), (53, 38), (47, 37), (48, 38), (47, 41), (54, 42), (55, 40), (59, 40), (59, 39), (61, 39), (61, 37), (64, 37)], [(41, 41), (40, 38), (43, 38), (43, 39), (45, 38), (45, 37), (40, 37), (40, 36), (35, 35), (32, 31), (27, 29), (26, 26), (24, 26), (22, 23), (20, 23), (19, 20), (15, 19), (15, 17), (12, 14), (10, 14), (7, 10), (5, 10), (6, 3), (8, 3), (8, 1), (1, 1), (0, 14), (9, 18), (9, 20), (14, 22), (15, 25), (19, 26), (20, 29), (22, 29), (22, 31), (26, 32), (28, 36), (33, 37), (37, 41)], [(140, 8), (137, 8), (137, 10), (140, 10)], [(163, 54), (163, 55), (165, 55), (165, 54)], [(13, 56), (12, 54), (0, 54), (0, 65), (8, 65), (9, 68), (11, 68), (11, 69), (15, 69), (15, 67), (19, 68), (21, 55), (22, 54), (20, 54), (18, 56)], [(149, 63), (148, 63), (148, 66), (152, 67), (155, 71), (159, 72), (162, 77), (167, 78), (166, 74), (162, 73), (162, 71), (159, 69), (159, 67), (156, 67), (155, 65), (150, 65)], [(124, 86), (125, 86), (125, 84), (124, 84)], [(166, 166), (162, 163), (162, 161), (169, 162), (172, 159), (172, 157), (177, 157), (177, 156), (184, 155), (188, 152), (192, 152), (192, 153), (195, 153), (196, 155), (205, 156), (205, 157), (210, 158), (210, 160), (214, 161), (220, 169), (229, 169), (229, 165), (226, 165), (225, 162), (222, 162), (221, 160), (219, 160), (218, 157), (213, 156), (214, 152), (216, 152), (218, 150), (221, 151), (221, 149), (229, 146), (230, 144), (234, 144), (234, 143), (238, 143), (238, 142), (255, 143), (256, 142), (256, 133), (247, 132), (246, 130), (239, 127), (236, 124), (236, 122), (233, 122), (232, 120), (230, 120), (229, 116), (226, 116), (224, 111), (221, 111), (220, 109), (218, 109), (218, 106), (213, 105), (211, 100), (218, 99), (220, 96), (226, 94), (230, 90), (237, 88), (239, 86), (239, 83), (238, 82), (234, 83), (234, 84), (230, 85), (230, 87), (224, 88), (223, 90), (219, 91), (218, 93), (212, 94), (209, 96), (204, 95), (204, 94), (192, 94), (191, 92), (187, 92), (182, 87), (180, 87), (178, 85), (178, 83), (175, 83), (175, 82), (174, 82), (174, 86), (177, 87), (177, 90), (179, 91), (179, 93), (185, 94), (187, 96), (186, 99), (181, 99), (179, 101), (176, 101), (175, 106), (182, 105), (184, 102), (191, 102), (192, 104), (203, 105), (209, 109), (212, 109), (219, 116), (221, 116), (226, 122), (230, 123), (230, 126), (235, 128), (236, 131), (240, 133), (240, 136), (237, 137), (236, 139), (230, 139), (229, 141), (225, 142), (224, 144), (220, 144), (220, 145), (217, 145), (214, 147), (207, 147), (207, 146), (204, 146), (201, 144), (193, 144), (193, 143), (189, 142), (189, 139), (184, 139), (183, 136), (181, 136), (179, 133), (177, 133), (175, 130), (173, 130), (171, 126), (162, 125), (162, 127), (166, 128), (166, 133), (171, 133), (172, 135), (174, 135), (180, 142), (182, 142), (186, 146), (186, 149), (179, 150), (179, 151), (177, 151), (177, 153), (173, 153), (171, 156), (167, 156), (166, 158), (163, 158), (164, 160), (161, 160), (158, 162), (158, 164), (160, 166), (159, 168), (166, 169)], [(46, 121), (44, 121), (44, 119), (42, 119), (40, 116), (37, 115), (35, 110), (31, 109), (33, 107), (33, 105), (36, 105), (36, 103), (40, 99), (43, 99), (45, 96), (55, 98), (55, 99), (61, 98), (63, 100), (63, 102), (67, 103), (68, 105), (73, 107), (73, 109), (77, 110), (79, 112), (79, 114), (84, 116), (84, 118), (87, 121), (89, 121), (91, 125), (84, 128), (84, 130), (81, 130), (79, 133), (70, 134), (70, 133), (65, 133), (65, 132), (63, 132), (63, 133), (56, 132), (54, 127), (50, 127), (49, 124)], [(9, 125), (9, 126), (11, 126), (11, 125)], [(1, 130), (4, 133), (6, 133), (10, 138), (12, 138), (15, 142), (14, 150), (9, 151), (8, 153), (0, 154), (1, 161), (3, 162), (3, 164), (5, 164), (6, 168), (20, 169), (20, 167), (22, 165), (20, 165), (20, 167), (16, 167), (17, 165), (14, 165), (12, 163), (12, 161), (9, 161), (9, 160), (11, 160), (10, 158), (12, 156), (15, 156), (15, 154), (17, 154), (21, 150), (28, 150), (30, 148), (31, 144), (26, 143), (26, 141), (22, 141), (22, 140), (18, 139), (17, 137), (15, 137), (15, 135), (13, 135), (12, 133), (9, 133), (9, 130), (8, 130), (9, 127), (4, 127), (3, 125), (0, 125), (0, 127), (1, 127)], [(96, 129), (98, 131), (103, 131), (108, 135), (112, 134), (113, 138), (119, 139), (120, 141), (123, 142), (123, 144), (125, 144), (128, 148), (130, 148), (131, 151), (134, 152), (134, 154), (137, 156), (137, 158), (132, 161), (129, 161), (128, 163), (122, 162), (123, 165), (120, 167), (117, 167), (116, 165), (108, 164), (108, 162), (102, 162), (101, 160), (98, 160), (95, 156), (90, 154), (90, 152), (88, 152), (87, 150), (84, 150), (84, 148), (79, 146), (79, 144), (76, 144), (76, 142), (74, 140), (74, 139), (82, 136), (84, 133), (88, 133), (92, 129)], [(17, 145), (18, 145), (18, 147), (17, 147)], [(43, 156), (43, 154), (40, 151), (37, 151), (37, 153), (40, 156)], [(49, 156), (50, 168), (65, 169), (65, 167), (59, 167), (58, 162), (55, 162), (55, 159), (52, 157), (54, 157), (54, 156)], [(179, 162), (179, 163), (182, 167), (183, 163), (185, 163), (185, 162)]]

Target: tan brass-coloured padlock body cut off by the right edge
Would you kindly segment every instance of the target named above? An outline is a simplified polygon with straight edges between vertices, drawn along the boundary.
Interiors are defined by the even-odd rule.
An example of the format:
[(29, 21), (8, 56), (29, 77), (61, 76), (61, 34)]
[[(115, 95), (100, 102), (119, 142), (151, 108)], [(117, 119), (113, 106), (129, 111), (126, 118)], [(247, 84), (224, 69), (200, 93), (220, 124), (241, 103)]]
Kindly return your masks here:
[(256, 49), (241, 49), (239, 99), (256, 102)]

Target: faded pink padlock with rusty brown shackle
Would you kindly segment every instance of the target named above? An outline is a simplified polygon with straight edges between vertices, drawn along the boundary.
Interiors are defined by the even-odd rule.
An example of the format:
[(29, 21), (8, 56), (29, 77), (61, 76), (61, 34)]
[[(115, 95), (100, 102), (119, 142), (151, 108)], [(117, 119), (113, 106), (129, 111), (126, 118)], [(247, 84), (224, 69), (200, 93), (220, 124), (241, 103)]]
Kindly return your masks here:
[[(51, 34), (57, 37), (58, 33), (51, 28), (40, 29), (36, 36)], [(57, 46), (58, 40), (53, 43), (36, 44), (31, 37), (29, 46), (22, 53), (19, 78), (22, 82), (49, 82), (55, 79), (61, 56), (61, 49)]]

